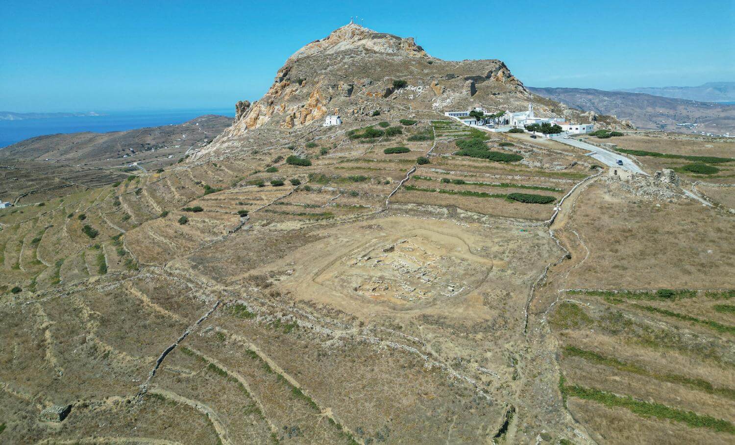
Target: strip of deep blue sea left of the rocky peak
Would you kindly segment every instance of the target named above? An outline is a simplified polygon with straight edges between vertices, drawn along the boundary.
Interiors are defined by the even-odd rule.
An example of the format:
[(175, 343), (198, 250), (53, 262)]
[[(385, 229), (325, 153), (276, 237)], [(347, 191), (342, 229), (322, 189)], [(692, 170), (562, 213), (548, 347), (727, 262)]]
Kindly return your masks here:
[(99, 112), (101, 116), (0, 121), (0, 147), (28, 138), (57, 133), (119, 132), (126, 129), (182, 124), (204, 114), (234, 117), (234, 109)]

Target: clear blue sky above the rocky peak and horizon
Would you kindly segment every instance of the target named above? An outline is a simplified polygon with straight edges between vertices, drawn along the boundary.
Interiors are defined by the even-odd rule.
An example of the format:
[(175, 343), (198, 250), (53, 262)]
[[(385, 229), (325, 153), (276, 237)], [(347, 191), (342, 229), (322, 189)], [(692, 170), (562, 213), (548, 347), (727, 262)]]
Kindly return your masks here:
[(4, 0), (0, 110), (234, 107), (351, 15), (434, 57), (501, 59), (530, 86), (735, 80), (732, 0)]

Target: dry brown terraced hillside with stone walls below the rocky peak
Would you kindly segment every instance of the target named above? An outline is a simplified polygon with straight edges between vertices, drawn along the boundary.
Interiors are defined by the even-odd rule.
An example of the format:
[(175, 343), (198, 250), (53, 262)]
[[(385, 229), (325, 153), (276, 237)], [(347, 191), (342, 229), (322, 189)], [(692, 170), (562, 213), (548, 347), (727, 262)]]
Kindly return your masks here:
[(0, 438), (730, 443), (732, 214), (390, 96), (0, 210)]

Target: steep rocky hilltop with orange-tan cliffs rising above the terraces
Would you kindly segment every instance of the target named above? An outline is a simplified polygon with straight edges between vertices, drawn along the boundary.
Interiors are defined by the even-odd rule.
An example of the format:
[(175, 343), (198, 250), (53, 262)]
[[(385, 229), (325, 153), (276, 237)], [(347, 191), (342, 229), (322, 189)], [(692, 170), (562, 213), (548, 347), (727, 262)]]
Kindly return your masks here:
[[(395, 88), (395, 80), (406, 86)], [(525, 110), (528, 102), (539, 115), (620, 124), (534, 95), (501, 60), (441, 60), (413, 38), (348, 24), (289, 57), (262, 99), (238, 102), (234, 124), (210, 149), (248, 130), (290, 130), (329, 114), (359, 121), (376, 113), (443, 113), (477, 106)]]

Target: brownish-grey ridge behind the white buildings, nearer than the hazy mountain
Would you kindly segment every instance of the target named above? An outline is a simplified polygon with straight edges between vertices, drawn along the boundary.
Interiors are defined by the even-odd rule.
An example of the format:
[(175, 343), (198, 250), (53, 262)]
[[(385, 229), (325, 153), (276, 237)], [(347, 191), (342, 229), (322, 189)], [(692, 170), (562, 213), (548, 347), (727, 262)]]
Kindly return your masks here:
[(526, 88), (568, 107), (628, 119), (641, 129), (735, 134), (735, 105), (592, 88)]

